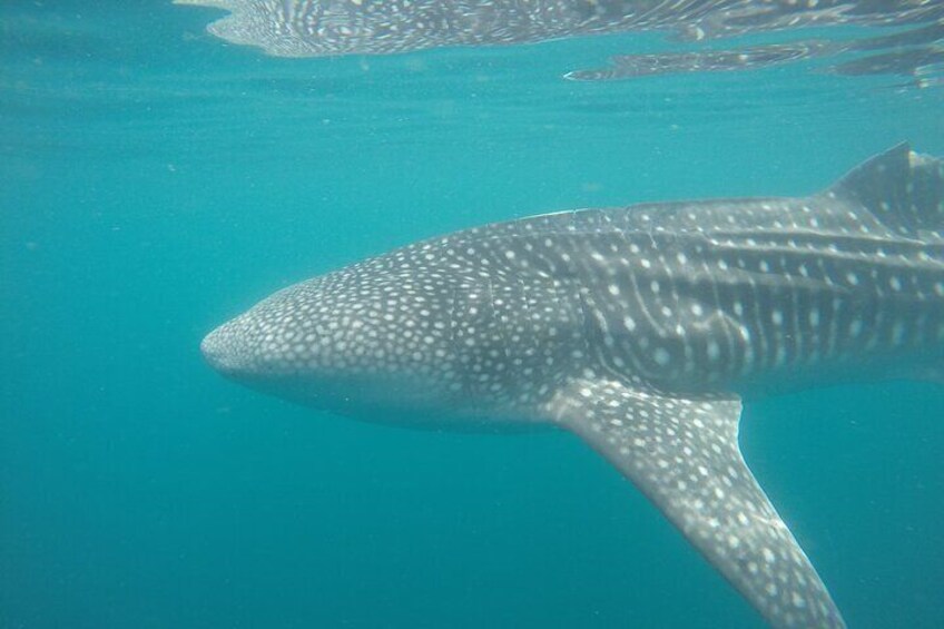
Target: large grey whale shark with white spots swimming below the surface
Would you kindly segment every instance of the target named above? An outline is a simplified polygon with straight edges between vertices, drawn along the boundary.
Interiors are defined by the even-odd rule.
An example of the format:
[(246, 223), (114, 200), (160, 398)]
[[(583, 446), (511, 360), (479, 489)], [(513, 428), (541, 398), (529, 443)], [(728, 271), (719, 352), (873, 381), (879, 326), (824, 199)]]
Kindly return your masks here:
[(210, 332), (260, 391), (406, 426), (576, 434), (773, 627), (844, 627), (741, 455), (741, 406), (944, 381), (944, 161), (898, 145), (823, 191), (588, 208), (421, 240)]

